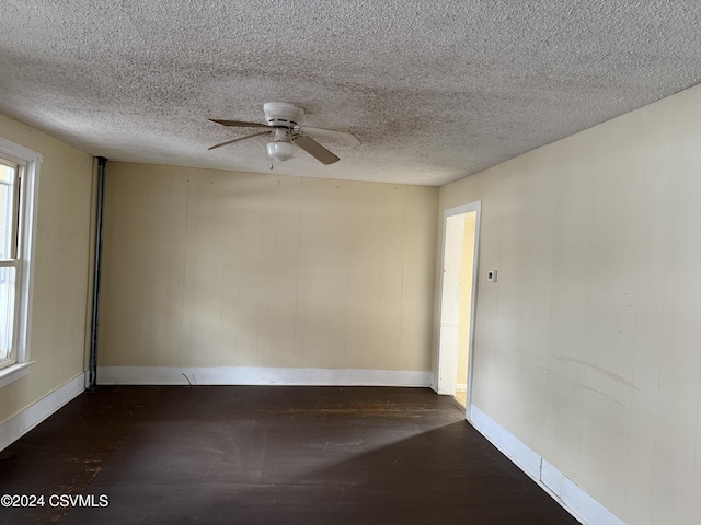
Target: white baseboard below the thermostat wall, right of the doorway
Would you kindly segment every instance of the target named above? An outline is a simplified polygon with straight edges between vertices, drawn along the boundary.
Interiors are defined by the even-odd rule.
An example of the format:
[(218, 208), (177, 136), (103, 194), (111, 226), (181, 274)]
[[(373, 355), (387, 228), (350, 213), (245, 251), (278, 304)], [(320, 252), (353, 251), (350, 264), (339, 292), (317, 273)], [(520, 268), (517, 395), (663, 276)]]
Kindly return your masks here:
[(470, 407), (470, 423), (482, 435), (581, 523), (625, 525), (621, 518), (474, 405)]

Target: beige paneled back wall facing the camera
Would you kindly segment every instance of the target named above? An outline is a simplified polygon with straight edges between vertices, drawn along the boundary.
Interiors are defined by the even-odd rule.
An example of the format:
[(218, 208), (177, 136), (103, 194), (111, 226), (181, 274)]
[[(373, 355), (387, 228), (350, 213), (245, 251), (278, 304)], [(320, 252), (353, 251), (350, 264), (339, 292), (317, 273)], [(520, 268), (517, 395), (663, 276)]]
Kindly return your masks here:
[(438, 190), (110, 163), (99, 364), (430, 370)]

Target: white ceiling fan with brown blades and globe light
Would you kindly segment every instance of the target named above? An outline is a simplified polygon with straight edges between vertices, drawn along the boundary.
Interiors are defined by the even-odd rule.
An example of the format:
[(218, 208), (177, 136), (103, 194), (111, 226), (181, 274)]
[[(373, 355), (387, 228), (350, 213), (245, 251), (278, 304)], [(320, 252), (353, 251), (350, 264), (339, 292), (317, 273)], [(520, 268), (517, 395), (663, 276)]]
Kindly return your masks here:
[(340, 159), (319, 142), (311, 139), (309, 137), (310, 135), (321, 139), (345, 142), (347, 144), (356, 145), (360, 143), (356, 136), (346, 131), (301, 126), (300, 122), (304, 116), (304, 109), (300, 106), (296, 106), (295, 104), (268, 102), (263, 105), (263, 113), (265, 114), (265, 121), (267, 124), (242, 122), (240, 120), (218, 120), (210, 118), (209, 120), (212, 122), (221, 124), (222, 126), (266, 129), (265, 131), (260, 131), (257, 133), (248, 135), (233, 140), (227, 140), (226, 142), (215, 144), (209, 149), (214, 150), (215, 148), (221, 148), (222, 145), (233, 144), (240, 140), (251, 139), (262, 135), (269, 135), (272, 136), (272, 140), (267, 143), (267, 154), (271, 159), (287, 161), (295, 156), (297, 153), (297, 147), (299, 147), (319, 162), (323, 164), (333, 164)]

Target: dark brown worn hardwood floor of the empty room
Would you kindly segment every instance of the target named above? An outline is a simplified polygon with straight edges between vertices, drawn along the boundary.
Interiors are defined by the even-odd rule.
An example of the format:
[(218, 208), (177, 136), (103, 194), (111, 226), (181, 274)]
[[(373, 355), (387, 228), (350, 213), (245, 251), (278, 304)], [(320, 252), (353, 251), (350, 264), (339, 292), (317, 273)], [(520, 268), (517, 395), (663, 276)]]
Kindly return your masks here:
[(13, 524), (577, 523), (424, 388), (101, 387), (0, 452), (0, 487), (44, 497)]

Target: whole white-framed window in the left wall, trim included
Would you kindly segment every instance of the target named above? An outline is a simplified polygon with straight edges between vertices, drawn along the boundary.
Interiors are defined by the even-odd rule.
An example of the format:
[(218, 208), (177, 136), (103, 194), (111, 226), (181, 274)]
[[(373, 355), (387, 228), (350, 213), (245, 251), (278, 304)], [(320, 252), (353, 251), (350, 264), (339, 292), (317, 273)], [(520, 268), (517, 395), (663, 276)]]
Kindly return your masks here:
[(28, 372), (35, 206), (42, 155), (0, 138), (0, 387)]

